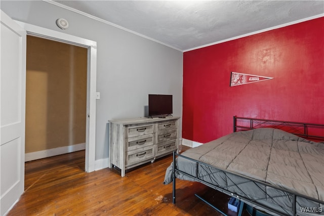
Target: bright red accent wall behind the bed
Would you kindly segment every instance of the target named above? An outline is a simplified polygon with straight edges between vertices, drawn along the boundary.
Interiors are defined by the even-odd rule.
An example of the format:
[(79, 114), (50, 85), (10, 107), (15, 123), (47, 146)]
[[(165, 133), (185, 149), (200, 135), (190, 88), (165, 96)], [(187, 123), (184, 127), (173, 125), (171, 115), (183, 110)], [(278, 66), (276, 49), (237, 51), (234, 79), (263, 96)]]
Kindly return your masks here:
[[(232, 117), (324, 123), (324, 17), (185, 52), (182, 138), (206, 143)], [(230, 87), (231, 71), (274, 79)]]

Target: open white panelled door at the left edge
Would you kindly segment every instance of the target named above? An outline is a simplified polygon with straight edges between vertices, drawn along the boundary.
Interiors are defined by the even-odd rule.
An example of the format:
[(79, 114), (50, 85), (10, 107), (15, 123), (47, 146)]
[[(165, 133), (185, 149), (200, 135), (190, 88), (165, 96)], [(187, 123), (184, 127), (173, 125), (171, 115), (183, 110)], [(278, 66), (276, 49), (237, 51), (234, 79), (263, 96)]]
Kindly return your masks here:
[(24, 192), (26, 31), (1, 11), (0, 215)]

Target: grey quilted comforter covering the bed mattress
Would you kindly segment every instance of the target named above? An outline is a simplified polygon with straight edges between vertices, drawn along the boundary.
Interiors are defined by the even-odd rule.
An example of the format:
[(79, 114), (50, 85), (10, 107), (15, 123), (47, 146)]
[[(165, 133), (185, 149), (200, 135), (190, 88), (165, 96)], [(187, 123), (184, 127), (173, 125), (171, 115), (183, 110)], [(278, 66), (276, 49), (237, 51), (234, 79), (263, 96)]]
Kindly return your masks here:
[[(208, 184), (217, 186), (259, 204), (277, 209), (284, 214), (292, 212), (293, 197), (301, 194), (324, 200), (324, 144), (312, 142), (275, 128), (258, 128), (235, 132), (182, 155), (212, 165), (199, 164), (178, 157), (177, 168)], [(214, 168), (215, 167), (215, 168)], [(224, 169), (229, 172), (220, 171)], [(256, 184), (245, 178), (268, 183), (282, 190)], [(196, 181), (176, 173), (176, 178)], [(164, 184), (172, 182), (172, 164), (166, 171)], [(257, 203), (257, 205), (255, 205)], [(324, 214), (324, 206), (297, 197), (298, 214)], [(310, 209), (310, 210), (309, 210)], [(310, 212), (311, 211), (311, 212)], [(305, 214), (305, 215), (306, 215)]]

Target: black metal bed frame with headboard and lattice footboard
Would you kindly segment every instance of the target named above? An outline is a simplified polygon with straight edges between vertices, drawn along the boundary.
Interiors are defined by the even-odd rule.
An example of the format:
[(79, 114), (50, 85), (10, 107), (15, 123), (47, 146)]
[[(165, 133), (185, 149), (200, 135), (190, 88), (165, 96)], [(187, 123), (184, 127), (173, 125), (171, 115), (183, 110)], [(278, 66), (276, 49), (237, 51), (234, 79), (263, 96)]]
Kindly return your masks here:
[[(233, 126), (234, 132), (246, 131), (249, 129), (260, 128), (260, 127), (272, 127), (272, 128), (282, 129), (286, 132), (295, 134), (300, 137), (308, 138), (308, 139), (311, 139), (311, 140), (314, 140), (317, 142), (324, 141), (324, 124), (302, 123), (302, 122), (292, 122), (292, 121), (277, 121), (277, 120), (267, 120), (267, 119), (257, 119), (257, 118), (244, 118), (244, 117), (236, 117), (236, 116), (233, 116), (233, 123), (234, 123), (234, 126)], [(176, 157), (182, 157), (182, 158), (185, 158), (185, 159), (195, 162), (196, 163), (195, 176), (187, 174), (186, 172), (178, 169), (176, 166)], [(209, 169), (215, 170), (215, 172), (223, 172), (227, 176), (233, 175), (235, 177), (240, 177), (242, 179), (245, 179), (245, 183), (249, 182), (249, 183), (255, 184), (256, 187), (258, 187), (260, 190), (262, 190), (266, 194), (267, 199), (271, 199), (273, 203), (277, 203), (277, 201), (275, 199), (278, 197), (286, 197), (287, 200), (290, 200), (292, 209), (290, 211), (287, 211), (285, 208), (281, 207), (280, 205), (276, 206), (276, 208), (274, 208), (274, 207), (271, 208), (271, 207), (268, 207), (268, 206), (259, 202), (262, 200), (250, 199), (243, 191), (241, 191), (242, 194), (232, 193), (231, 191), (229, 191), (225, 188), (221, 188), (218, 185), (210, 184), (204, 180), (201, 180), (198, 177), (198, 167), (199, 166), (200, 167), (201, 166), (208, 167)], [(240, 204), (240, 207), (238, 210), (238, 215), (241, 215), (245, 202), (247, 202), (249, 204), (252, 203), (256, 206), (259, 206), (262, 210), (266, 209), (270, 212), (273, 212), (273, 213), (276, 213), (279, 215), (297, 215), (297, 206), (296, 206), (297, 201), (296, 200), (298, 197), (324, 205), (323, 200), (314, 199), (312, 197), (308, 197), (303, 194), (295, 193), (295, 192), (292, 192), (287, 189), (279, 188), (277, 186), (273, 186), (271, 184), (255, 180), (253, 178), (242, 176), (242, 175), (236, 174), (235, 172), (221, 169), (221, 168), (206, 164), (204, 162), (194, 160), (192, 158), (183, 156), (176, 152), (173, 153), (173, 170), (172, 170), (172, 178), (173, 178), (173, 193), (172, 194), (173, 194), (173, 203), (174, 204), (176, 203), (176, 172), (183, 174), (185, 176), (188, 176), (188, 177), (194, 179), (194, 181), (196, 181), (196, 182), (203, 183), (213, 189), (216, 189), (222, 193), (225, 193), (231, 197), (234, 197), (234, 198), (240, 200), (241, 204)], [(232, 183), (233, 183), (233, 185), (235, 185), (233, 181), (232, 181)], [(266, 187), (270, 187), (273, 190), (278, 190), (278, 191), (282, 192), (282, 195), (277, 196), (277, 197), (271, 197), (267, 194)], [(208, 205), (210, 205), (211, 207), (213, 207), (215, 210), (219, 211), (220, 213), (227, 215), (226, 213), (222, 212), (217, 207), (213, 206), (207, 200), (200, 197), (199, 195), (195, 194), (195, 196), (197, 198), (201, 199), (202, 201), (204, 201), (205, 203), (207, 203)], [(277, 210), (279, 208), (281, 211)], [(312, 210), (312, 213), (324, 212), (324, 209), (322, 209), (322, 208), (310, 209), (310, 210)]]

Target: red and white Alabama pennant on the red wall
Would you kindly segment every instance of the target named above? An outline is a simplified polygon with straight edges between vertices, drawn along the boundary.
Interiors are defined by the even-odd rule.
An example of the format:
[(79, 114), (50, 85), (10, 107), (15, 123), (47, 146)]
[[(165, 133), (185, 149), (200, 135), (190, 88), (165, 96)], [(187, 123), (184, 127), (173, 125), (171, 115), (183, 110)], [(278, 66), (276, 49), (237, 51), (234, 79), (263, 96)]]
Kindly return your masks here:
[(260, 81), (269, 80), (269, 79), (273, 79), (273, 77), (257, 76), (257, 75), (246, 74), (246, 73), (231, 72), (230, 87), (233, 87), (235, 85), (249, 84), (252, 82), (260, 82)]

